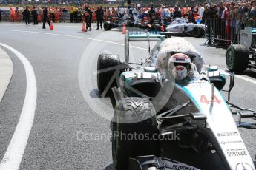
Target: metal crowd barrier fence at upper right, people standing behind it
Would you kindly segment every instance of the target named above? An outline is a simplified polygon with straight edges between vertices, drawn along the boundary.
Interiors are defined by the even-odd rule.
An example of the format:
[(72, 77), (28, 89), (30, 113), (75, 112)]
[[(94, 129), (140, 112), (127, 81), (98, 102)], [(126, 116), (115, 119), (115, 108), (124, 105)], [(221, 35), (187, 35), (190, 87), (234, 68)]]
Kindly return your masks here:
[(244, 27), (256, 26), (255, 21), (222, 18), (206, 18), (204, 24), (206, 25), (205, 38), (209, 43), (224, 42), (226, 44), (239, 44), (240, 30), (243, 30)]

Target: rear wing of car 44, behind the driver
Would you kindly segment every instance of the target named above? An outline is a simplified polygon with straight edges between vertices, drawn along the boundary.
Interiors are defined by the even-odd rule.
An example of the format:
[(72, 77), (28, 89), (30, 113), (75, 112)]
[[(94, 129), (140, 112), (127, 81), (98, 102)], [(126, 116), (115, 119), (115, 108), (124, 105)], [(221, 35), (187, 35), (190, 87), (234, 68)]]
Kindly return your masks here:
[(125, 63), (129, 63), (130, 41), (148, 41), (148, 52), (151, 52), (150, 41), (163, 41), (165, 38), (170, 38), (172, 34), (170, 32), (127, 31), (125, 33)]

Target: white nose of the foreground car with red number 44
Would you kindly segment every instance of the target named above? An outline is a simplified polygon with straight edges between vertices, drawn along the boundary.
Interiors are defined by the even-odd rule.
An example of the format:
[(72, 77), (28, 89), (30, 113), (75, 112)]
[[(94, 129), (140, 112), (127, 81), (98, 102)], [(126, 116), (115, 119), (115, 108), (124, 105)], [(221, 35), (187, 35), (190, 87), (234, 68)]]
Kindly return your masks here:
[(186, 92), (200, 112), (206, 115), (206, 132), (209, 133), (209, 141), (226, 168), (238, 170), (241, 169), (240, 163), (245, 163), (251, 167), (250, 169), (255, 169), (232, 113), (218, 89), (208, 81), (200, 80), (187, 86), (180, 86), (180, 90)]

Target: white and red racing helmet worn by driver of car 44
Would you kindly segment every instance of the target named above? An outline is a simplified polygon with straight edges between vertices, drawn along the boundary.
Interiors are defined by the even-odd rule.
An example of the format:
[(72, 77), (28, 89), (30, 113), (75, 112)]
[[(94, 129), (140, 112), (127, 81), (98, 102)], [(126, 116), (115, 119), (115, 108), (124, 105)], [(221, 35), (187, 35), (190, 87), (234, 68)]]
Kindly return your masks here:
[(176, 81), (183, 81), (190, 75), (191, 60), (188, 55), (177, 53), (168, 60), (168, 73)]

